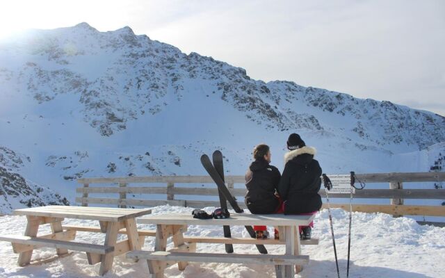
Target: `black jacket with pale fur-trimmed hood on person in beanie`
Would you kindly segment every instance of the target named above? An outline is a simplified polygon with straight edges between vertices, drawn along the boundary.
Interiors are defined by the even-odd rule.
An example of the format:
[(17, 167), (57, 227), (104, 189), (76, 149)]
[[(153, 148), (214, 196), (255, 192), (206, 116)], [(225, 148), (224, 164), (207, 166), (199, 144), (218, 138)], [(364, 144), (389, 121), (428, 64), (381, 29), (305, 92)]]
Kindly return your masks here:
[(284, 214), (311, 213), (321, 208), (321, 167), (314, 159), (313, 147), (302, 147), (284, 156), (286, 165), (278, 185)]

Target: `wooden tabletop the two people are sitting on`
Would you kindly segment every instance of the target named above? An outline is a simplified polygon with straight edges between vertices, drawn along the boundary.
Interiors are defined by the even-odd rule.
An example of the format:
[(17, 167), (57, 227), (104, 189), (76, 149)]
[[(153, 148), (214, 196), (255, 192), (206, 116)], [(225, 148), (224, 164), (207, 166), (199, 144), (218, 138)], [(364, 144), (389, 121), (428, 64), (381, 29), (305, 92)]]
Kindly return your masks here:
[(264, 226), (307, 226), (315, 215), (282, 215), (282, 214), (236, 214), (232, 213), (230, 218), (225, 219), (197, 219), (193, 215), (184, 213), (170, 213), (161, 215), (147, 215), (138, 218), (141, 224), (175, 224), (175, 225), (264, 225)]

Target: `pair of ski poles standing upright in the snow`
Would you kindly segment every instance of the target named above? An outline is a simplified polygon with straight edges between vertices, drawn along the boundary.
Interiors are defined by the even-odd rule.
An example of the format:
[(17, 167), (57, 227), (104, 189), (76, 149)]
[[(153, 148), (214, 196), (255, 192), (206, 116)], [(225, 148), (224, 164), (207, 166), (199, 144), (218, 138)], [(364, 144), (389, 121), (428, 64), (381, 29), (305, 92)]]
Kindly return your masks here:
[[(334, 245), (334, 255), (335, 255), (335, 265), (337, 266), (337, 275), (340, 278), (340, 271), (339, 271), (339, 261), (337, 259), (337, 248), (335, 247), (335, 238), (334, 238), (334, 227), (332, 226), (332, 214), (331, 214), (331, 208), (329, 204), (329, 195), (327, 194), (327, 191), (331, 190), (332, 183), (330, 179), (326, 176), (326, 174), (323, 174), (323, 183), (325, 185), (325, 193), (326, 193), (326, 203), (327, 203), (327, 211), (329, 213), (329, 222), (331, 227), (331, 235), (332, 235), (332, 245)], [(352, 222), (353, 222), (353, 188), (355, 189), (363, 189), (364, 183), (360, 182), (361, 188), (355, 187), (355, 172), (350, 172), (350, 198), (349, 198), (349, 231), (348, 231), (348, 265), (346, 270), (346, 278), (349, 277), (349, 261), (350, 261), (350, 234), (351, 234), (351, 228), (352, 228)]]

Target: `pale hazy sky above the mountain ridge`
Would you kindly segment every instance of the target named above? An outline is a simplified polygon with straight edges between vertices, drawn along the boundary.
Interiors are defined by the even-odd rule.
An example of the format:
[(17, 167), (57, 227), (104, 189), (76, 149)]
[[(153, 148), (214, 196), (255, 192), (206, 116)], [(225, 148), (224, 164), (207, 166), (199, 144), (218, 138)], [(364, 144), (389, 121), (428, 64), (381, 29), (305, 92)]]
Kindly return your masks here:
[(253, 79), (445, 115), (445, 1), (1, 1), (0, 40), (88, 22), (243, 67)]

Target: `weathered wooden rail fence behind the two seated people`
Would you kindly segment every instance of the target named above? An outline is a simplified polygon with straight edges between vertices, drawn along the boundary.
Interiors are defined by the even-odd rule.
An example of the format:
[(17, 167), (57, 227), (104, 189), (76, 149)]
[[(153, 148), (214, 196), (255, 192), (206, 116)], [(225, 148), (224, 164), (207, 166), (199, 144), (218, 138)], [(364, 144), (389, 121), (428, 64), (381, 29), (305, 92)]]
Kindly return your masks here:
[[(329, 175), (328, 175), (329, 176)], [(369, 183), (389, 183), (389, 189), (369, 189), (366, 186), (363, 190), (356, 190), (354, 199), (390, 199), (390, 204), (353, 204), (353, 211), (365, 213), (388, 213), (398, 215), (429, 215), (445, 216), (445, 206), (417, 206), (405, 205), (404, 199), (442, 199), (445, 200), (445, 190), (443, 189), (403, 189), (403, 183), (423, 182), (423, 181), (445, 181), (445, 172), (416, 172), (416, 173), (379, 173), (379, 174), (356, 174), (357, 179)], [(202, 185), (213, 183), (208, 176), (161, 176), (161, 177), (119, 177), (119, 178), (83, 178), (77, 180), (83, 187), (76, 188), (77, 193), (82, 197), (76, 197), (76, 202), (82, 206), (88, 204), (114, 204), (120, 207), (127, 206), (160, 206), (170, 204), (172, 206), (191, 206), (202, 208), (204, 206), (220, 206), (218, 201), (176, 199), (175, 195), (194, 196), (218, 196), (218, 188), (201, 187), (177, 187), (178, 183), (193, 183)], [(225, 177), (227, 187), (232, 195), (245, 195), (245, 188), (234, 188), (235, 183), (245, 183), (243, 176)], [(112, 186), (97, 186), (97, 184), (111, 184)], [(142, 183), (142, 184), (141, 184)], [(166, 186), (149, 186), (143, 183), (164, 183)], [(95, 184), (96, 186), (90, 186)], [(139, 184), (139, 186), (129, 186)], [(112, 194), (118, 197), (90, 197), (90, 194)], [(325, 196), (324, 189), (320, 192)], [(135, 199), (129, 197), (131, 194), (157, 194), (166, 195), (160, 199)], [(330, 199), (349, 198), (349, 194), (331, 194)], [(245, 208), (242, 200), (238, 202)], [(325, 204), (323, 204), (325, 207)], [(349, 204), (331, 204), (333, 208), (343, 208), (349, 210)]]

